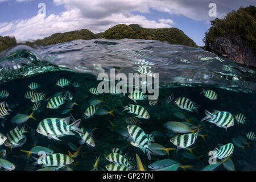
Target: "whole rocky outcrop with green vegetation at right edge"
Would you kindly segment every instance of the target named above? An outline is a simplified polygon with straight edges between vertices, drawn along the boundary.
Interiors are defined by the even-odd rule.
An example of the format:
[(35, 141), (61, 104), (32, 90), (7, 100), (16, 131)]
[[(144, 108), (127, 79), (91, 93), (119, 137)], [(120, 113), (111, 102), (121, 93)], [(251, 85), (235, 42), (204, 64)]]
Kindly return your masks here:
[(256, 67), (256, 8), (240, 7), (228, 13), (224, 19), (211, 21), (212, 27), (205, 33), (208, 51)]

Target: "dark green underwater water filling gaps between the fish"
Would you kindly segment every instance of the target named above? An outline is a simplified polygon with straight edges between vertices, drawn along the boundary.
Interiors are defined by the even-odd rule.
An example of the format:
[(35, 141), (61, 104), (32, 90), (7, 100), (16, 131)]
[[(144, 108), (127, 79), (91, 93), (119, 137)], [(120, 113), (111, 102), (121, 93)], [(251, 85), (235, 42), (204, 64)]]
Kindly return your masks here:
[[(72, 85), (65, 87), (64, 89), (60, 88), (56, 85), (57, 80), (59, 78), (68, 78), (69, 80), (78, 81), (81, 83), (79, 88), (75, 88)], [(151, 164), (155, 160), (160, 159), (173, 159), (183, 165), (192, 165), (194, 166), (190, 170), (201, 170), (203, 167), (208, 165), (208, 152), (213, 150), (213, 148), (218, 146), (218, 143), (229, 143), (232, 142), (232, 138), (237, 137), (238, 135), (242, 135), (246, 138), (245, 134), (248, 131), (255, 131), (255, 101), (256, 94), (255, 93), (241, 93), (241, 92), (232, 92), (224, 89), (217, 88), (205, 88), (212, 89), (217, 93), (217, 100), (209, 100), (207, 97), (200, 94), (201, 87), (181, 87), (181, 88), (167, 88), (167, 89), (159, 89), (159, 101), (155, 106), (148, 105), (148, 101), (137, 101), (138, 105), (143, 106), (148, 113), (150, 113), (150, 119), (140, 119), (142, 121), (141, 127), (145, 131), (146, 134), (151, 134), (152, 131), (160, 131), (163, 135), (167, 135), (167, 129), (163, 126), (164, 123), (168, 121), (181, 121), (181, 119), (176, 118), (174, 113), (177, 111), (181, 111), (187, 118), (192, 118), (191, 123), (197, 125), (197, 123), (204, 124), (203, 130), (201, 133), (207, 134), (208, 136), (203, 138), (198, 137), (196, 139), (193, 147), (196, 147), (193, 150), (193, 154), (196, 156), (204, 155), (202, 158), (198, 159), (185, 159), (181, 154), (183, 152), (188, 152), (188, 150), (180, 150), (179, 152), (170, 151), (170, 156), (154, 156), (152, 155), (152, 160), (147, 159), (147, 155), (142, 152), (137, 147), (131, 146), (126, 139), (124, 139), (118, 133), (110, 130), (111, 125), (110, 121), (113, 122), (115, 127), (126, 127), (127, 123), (125, 122), (125, 118), (130, 117), (134, 114), (129, 114), (127, 111), (122, 111), (123, 107), (129, 104), (134, 104), (132, 100), (130, 100), (127, 96), (123, 96), (122, 94), (112, 95), (112, 94), (101, 94), (100, 96), (94, 96), (89, 92), (89, 89), (92, 87), (96, 87), (98, 85), (97, 78), (95, 76), (89, 74), (81, 74), (81, 73), (73, 73), (73, 72), (50, 72), (43, 73), (42, 75), (33, 76), (30, 78), (20, 78), (15, 79), (5, 84), (1, 85), (1, 89), (8, 89), (10, 95), (7, 97), (6, 101), (12, 107), (12, 112), (10, 115), (5, 117), (6, 119), (1, 119), (1, 123), (3, 126), (0, 126), (0, 133), (6, 134), (8, 131), (13, 129), (16, 125), (10, 122), (10, 119), (18, 113), (21, 114), (30, 114), (31, 110), (28, 111), (27, 106), (32, 106), (32, 102), (26, 98), (24, 98), (24, 93), (26, 93), (29, 89), (27, 87), (30, 82), (38, 82), (40, 84), (40, 88), (38, 89), (40, 92), (47, 93), (49, 96), (52, 96), (56, 92), (60, 92), (61, 90), (69, 90), (73, 94), (73, 100), (76, 101), (79, 106), (73, 106), (73, 110), (71, 110), (72, 115), (76, 119), (82, 119), (83, 113), (85, 109), (89, 106), (88, 101), (91, 98), (103, 98), (104, 102), (101, 103), (101, 107), (106, 110), (117, 109), (114, 111), (114, 117), (110, 114), (107, 115), (94, 115), (89, 119), (82, 119), (81, 126), (85, 127), (85, 129), (93, 129), (97, 127), (98, 129), (93, 132), (93, 138), (96, 140), (96, 151), (95, 147), (89, 147), (84, 144), (83, 152), (84, 155), (79, 155), (75, 158), (75, 162), (79, 162), (81, 165), (71, 166), (73, 170), (90, 170), (92, 169), (96, 157), (98, 155), (101, 156), (99, 165), (104, 167), (109, 164), (108, 160), (104, 160), (104, 156), (101, 152), (108, 155), (111, 153), (111, 148), (118, 147), (129, 156), (133, 156), (135, 158), (135, 154), (138, 154), (142, 160), (142, 163), (147, 166)], [(174, 103), (166, 104), (166, 97), (170, 96), (171, 93), (174, 93), (175, 97), (187, 97), (192, 101), (196, 102), (197, 105), (201, 105), (199, 108), (199, 114), (191, 113), (185, 110), (180, 109)], [(3, 99), (2, 99), (3, 100)], [(16, 105), (13, 106), (12, 104)], [(68, 117), (69, 114), (61, 114), (61, 111), (66, 109), (65, 104), (60, 106), (59, 109), (48, 109), (46, 108), (47, 101), (43, 101), (43, 105), (40, 107), (40, 112), (36, 112), (34, 117), (38, 121), (34, 121), (33, 119), (28, 119), (25, 122), (27, 127), (31, 127), (36, 129), (39, 121), (42, 121), (45, 118), (51, 117), (59, 117), (64, 118)], [(204, 110), (212, 111), (214, 109), (229, 111), (232, 114), (243, 113), (246, 116), (246, 124), (238, 125), (235, 122), (235, 125), (229, 127), (226, 131), (221, 127), (217, 127), (213, 123), (209, 123), (207, 121), (200, 121), (201, 118), (205, 116)], [(61, 154), (67, 154), (68, 151), (72, 151), (68, 146), (68, 142), (72, 142), (79, 146), (79, 135), (68, 135), (65, 137), (61, 137), (61, 141), (56, 142), (56, 140), (49, 140), (46, 136), (43, 136), (39, 133), (35, 133), (35, 136), (31, 137), (30, 133), (25, 134), (27, 136), (27, 142), (22, 147), (13, 148), (12, 152), (8, 147), (4, 145), (2, 148), (7, 149), (7, 157), (10, 162), (13, 162), (16, 165), (16, 170), (35, 170), (42, 168), (39, 165), (32, 165), (35, 162), (34, 159), (26, 158), (26, 154), (24, 152), (20, 152), (20, 150), (30, 150), (33, 147), (33, 143), (38, 146), (48, 147), (50, 144), (50, 148), (55, 152), (60, 152)], [(169, 141), (170, 137), (155, 137), (155, 142), (162, 144), (164, 147), (176, 147)], [(249, 140), (248, 140), (249, 141)], [(72, 151), (75, 152), (75, 151)], [(236, 170), (244, 170), (244, 169), (255, 169), (255, 142), (251, 142), (250, 148), (245, 147), (245, 152), (243, 152), (241, 147), (234, 146), (234, 153), (232, 155), (232, 160)], [(33, 155), (33, 154), (32, 154)], [(19, 156), (17, 159), (15, 156)], [(237, 163), (239, 160), (245, 160), (250, 164), (250, 168), (245, 165), (241, 165)], [(180, 170), (181, 168), (179, 168)], [(225, 170), (223, 166), (217, 168), (218, 170)], [(182, 169), (181, 169), (182, 170)]]

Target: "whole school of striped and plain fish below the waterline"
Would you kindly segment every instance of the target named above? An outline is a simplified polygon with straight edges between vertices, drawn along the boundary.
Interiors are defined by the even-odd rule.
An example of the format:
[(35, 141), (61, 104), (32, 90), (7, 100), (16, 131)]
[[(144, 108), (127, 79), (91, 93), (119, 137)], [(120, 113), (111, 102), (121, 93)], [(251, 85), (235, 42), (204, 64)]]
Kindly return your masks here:
[[(149, 100), (147, 93), (140, 90), (123, 94), (114, 86), (105, 98), (108, 93), (98, 92), (95, 84), (83, 91), (82, 94), (86, 96), (83, 95), (84, 100), (80, 100), (76, 92), (84, 85), (77, 80), (57, 79), (56, 85), (51, 86), (58, 89), (58, 92), (53, 94), (43, 92), (44, 84), (39, 81), (31, 82), (26, 86), (26, 92), (19, 93), (30, 104), (18, 113), (13, 111), (18, 104), (9, 106), (9, 98), (13, 97), (11, 90), (0, 90), (1, 127), (5, 129), (5, 123), (9, 121), (12, 126), (11, 130), (0, 133), (0, 170), (12, 171), (18, 166), (19, 170), (71, 171), (86, 166), (83, 169), (92, 171), (213, 171), (222, 165), (226, 170), (234, 171), (236, 168), (232, 155), (236, 155), (241, 149), (243, 152), (250, 150), (250, 144), (256, 140), (254, 130), (251, 129), (236, 138), (228, 138), (229, 143), (222, 143), (220, 139), (218, 146), (204, 152), (201, 149), (211, 142), (208, 139), (210, 135), (215, 135), (216, 140), (218, 139), (217, 133), (205, 133), (205, 127), (215, 127), (218, 132), (229, 133), (232, 132), (232, 127), (243, 127), (250, 121), (243, 113), (230, 113), (229, 108), (205, 110), (204, 105), (186, 96), (179, 96), (179, 93), (172, 93), (164, 100)], [(200, 96), (209, 105), (221, 98), (216, 91), (204, 88), (198, 93), (198, 97)], [(128, 104), (123, 104), (122, 107), (113, 107), (113, 104), (110, 106), (109, 102), (115, 103), (119, 98), (126, 100)], [(176, 119), (158, 124), (157, 117), (162, 113), (155, 110), (160, 105), (164, 106), (162, 111), (169, 113), (168, 107), (175, 108), (176, 112), (170, 114)], [(59, 114), (38, 117), (39, 113), (42, 115), (48, 110)], [(205, 117), (196, 117), (199, 113), (204, 113)], [(117, 114), (123, 115), (124, 119), (119, 121), (122, 126), (117, 126), (114, 122)], [(195, 117), (191, 117), (191, 114)], [(151, 120), (156, 124), (154, 130), (149, 131), (146, 126), (152, 125), (149, 122)], [(108, 127), (102, 129), (98, 121), (106, 123)], [(92, 126), (92, 123), (94, 128), (87, 127)], [(104, 133), (94, 137), (98, 130)], [(116, 142), (111, 143), (111, 139), (104, 138), (106, 135), (111, 137), (113, 133), (118, 136), (118, 145)], [(99, 137), (101, 135), (103, 138)], [(40, 143), (38, 138), (43, 142)], [(69, 142), (66, 142), (67, 138)], [(164, 142), (159, 142), (162, 141), (159, 138), (164, 139)], [(106, 141), (110, 143), (107, 145)], [(69, 150), (56, 151), (56, 145)], [(112, 147), (102, 147), (104, 145)], [(135, 154), (128, 152), (128, 148)], [(177, 155), (184, 161), (176, 158)], [(90, 159), (89, 168), (87, 162), (83, 163), (86, 159)], [(23, 166), (20, 163), (17, 165), (18, 160), (24, 161)], [(199, 160), (204, 160), (205, 166), (190, 163)], [(210, 160), (215, 162), (210, 164)], [(250, 166), (243, 159), (239, 163)], [(31, 167), (28, 167), (29, 164)], [(250, 166), (249, 169), (254, 168)]]

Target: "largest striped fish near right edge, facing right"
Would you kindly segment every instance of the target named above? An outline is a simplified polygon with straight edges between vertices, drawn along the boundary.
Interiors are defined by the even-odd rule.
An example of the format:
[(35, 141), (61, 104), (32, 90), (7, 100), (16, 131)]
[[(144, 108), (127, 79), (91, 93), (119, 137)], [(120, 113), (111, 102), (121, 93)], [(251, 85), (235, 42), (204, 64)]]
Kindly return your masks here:
[(234, 117), (231, 113), (227, 111), (218, 111), (214, 110), (213, 114), (205, 110), (206, 117), (201, 119), (201, 121), (207, 120), (211, 123), (214, 123), (218, 127), (223, 127), (227, 130), (228, 127), (234, 125)]

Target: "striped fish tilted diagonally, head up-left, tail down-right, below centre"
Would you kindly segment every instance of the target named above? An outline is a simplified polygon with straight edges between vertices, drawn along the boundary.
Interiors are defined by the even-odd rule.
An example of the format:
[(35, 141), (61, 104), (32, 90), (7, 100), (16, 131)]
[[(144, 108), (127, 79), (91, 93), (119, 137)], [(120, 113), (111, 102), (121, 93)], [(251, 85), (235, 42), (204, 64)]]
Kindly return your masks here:
[(150, 149), (149, 145), (151, 144), (151, 141), (154, 142), (154, 135), (147, 135), (142, 128), (137, 125), (128, 125), (127, 129), (128, 133), (133, 138), (133, 141), (138, 144), (144, 154), (147, 153), (148, 159), (151, 160), (150, 152), (154, 155), (155, 152)]

